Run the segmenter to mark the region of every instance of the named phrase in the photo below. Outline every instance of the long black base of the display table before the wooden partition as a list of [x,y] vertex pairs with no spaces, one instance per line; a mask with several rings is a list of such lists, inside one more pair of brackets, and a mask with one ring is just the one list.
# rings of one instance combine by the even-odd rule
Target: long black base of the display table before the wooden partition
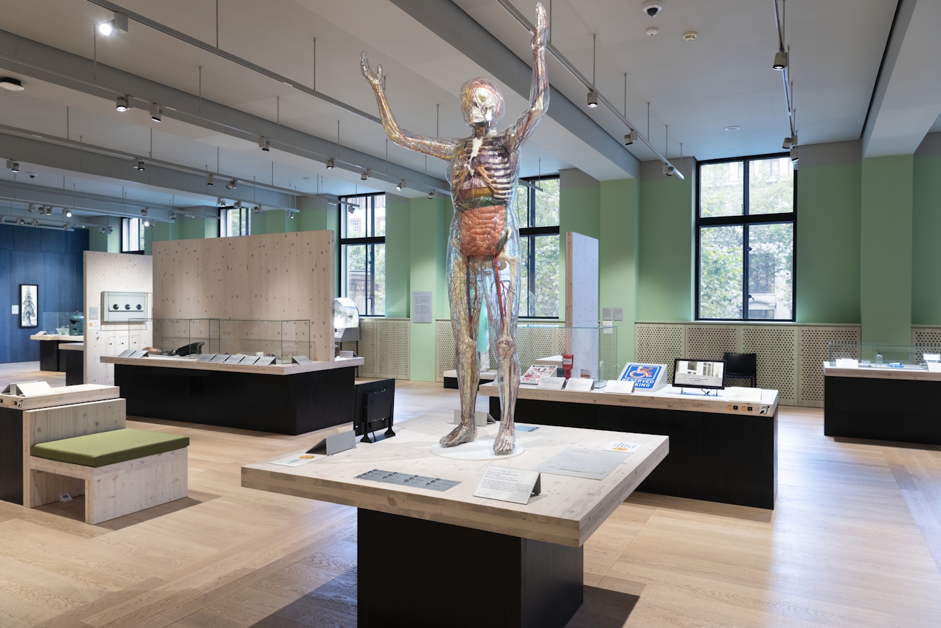
[[354,366],[295,375],[115,364],[128,416],[279,434],[353,421]]

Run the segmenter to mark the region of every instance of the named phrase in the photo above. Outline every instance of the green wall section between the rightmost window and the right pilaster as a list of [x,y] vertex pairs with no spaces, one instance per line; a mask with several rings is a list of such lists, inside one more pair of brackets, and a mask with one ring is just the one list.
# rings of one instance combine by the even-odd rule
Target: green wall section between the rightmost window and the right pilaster
[[797,171],[797,321],[859,323],[860,164]]

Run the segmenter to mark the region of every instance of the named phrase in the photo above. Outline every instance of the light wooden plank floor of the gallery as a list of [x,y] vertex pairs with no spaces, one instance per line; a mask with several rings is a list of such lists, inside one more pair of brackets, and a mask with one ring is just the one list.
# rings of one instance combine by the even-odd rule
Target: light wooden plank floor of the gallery
[[[399,423],[457,405],[396,385]],[[189,497],[97,526],[81,498],[0,502],[0,626],[356,625],[355,510],[239,486],[319,434],[128,425],[190,437]],[[569,626],[941,626],[941,448],[835,443],[821,411],[785,408],[778,452],[774,512],[632,496],[585,545]]]

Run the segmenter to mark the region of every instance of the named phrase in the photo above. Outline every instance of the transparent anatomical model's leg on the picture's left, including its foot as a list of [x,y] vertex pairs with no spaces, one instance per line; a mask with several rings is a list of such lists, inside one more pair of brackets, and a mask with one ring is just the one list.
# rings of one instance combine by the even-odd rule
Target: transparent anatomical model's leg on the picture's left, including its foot
[[[459,219],[455,216],[455,223]],[[463,257],[458,250],[454,224],[451,232],[447,252],[448,302],[451,305],[451,327],[455,331],[457,349],[457,389],[461,399],[461,424],[441,439],[442,447],[467,443],[476,438],[477,426],[473,414],[477,406],[477,384],[480,382],[477,330],[482,295],[479,273],[473,259]]]

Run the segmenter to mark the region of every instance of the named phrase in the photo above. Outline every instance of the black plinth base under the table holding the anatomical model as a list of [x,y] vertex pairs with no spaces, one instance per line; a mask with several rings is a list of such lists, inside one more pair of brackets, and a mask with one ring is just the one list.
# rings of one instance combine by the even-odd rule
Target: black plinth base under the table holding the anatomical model
[[581,547],[359,508],[359,628],[563,628]]

